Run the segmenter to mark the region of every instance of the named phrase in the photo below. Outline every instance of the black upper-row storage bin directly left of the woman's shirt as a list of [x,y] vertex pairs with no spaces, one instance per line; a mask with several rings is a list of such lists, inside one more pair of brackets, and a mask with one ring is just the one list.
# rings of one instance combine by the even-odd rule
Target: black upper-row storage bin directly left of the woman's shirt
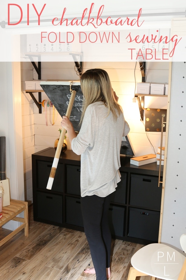
[[66,165],[66,192],[72,195],[81,195],[80,166]]

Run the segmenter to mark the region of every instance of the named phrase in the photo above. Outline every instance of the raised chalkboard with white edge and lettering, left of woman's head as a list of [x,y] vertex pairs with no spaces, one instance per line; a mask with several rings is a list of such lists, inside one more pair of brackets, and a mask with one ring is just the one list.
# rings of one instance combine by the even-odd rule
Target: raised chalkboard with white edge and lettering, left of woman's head
[[[70,82],[41,82],[40,86],[55,106],[59,115],[62,117],[66,114],[70,100]],[[80,130],[80,118],[82,114],[83,94],[80,87],[80,82],[73,82],[71,89],[76,91],[70,121],[73,124],[74,130]]]

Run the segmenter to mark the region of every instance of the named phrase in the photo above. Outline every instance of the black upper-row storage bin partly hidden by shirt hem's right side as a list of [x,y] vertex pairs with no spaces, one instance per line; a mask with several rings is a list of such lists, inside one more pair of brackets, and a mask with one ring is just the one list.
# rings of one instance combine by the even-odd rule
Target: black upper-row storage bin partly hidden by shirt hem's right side
[[121,173],[121,181],[117,184],[116,191],[111,194],[111,202],[126,203],[127,174]]

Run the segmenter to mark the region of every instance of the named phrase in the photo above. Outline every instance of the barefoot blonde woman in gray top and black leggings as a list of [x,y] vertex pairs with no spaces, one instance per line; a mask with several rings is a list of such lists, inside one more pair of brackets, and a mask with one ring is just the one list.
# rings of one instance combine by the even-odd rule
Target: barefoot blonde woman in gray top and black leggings
[[67,130],[73,152],[81,155],[82,216],[94,264],[84,272],[106,280],[111,276],[110,194],[120,182],[121,140],[130,128],[106,71],[87,70],[81,77],[81,89],[84,103],[79,134],[76,137],[66,116],[61,125]]

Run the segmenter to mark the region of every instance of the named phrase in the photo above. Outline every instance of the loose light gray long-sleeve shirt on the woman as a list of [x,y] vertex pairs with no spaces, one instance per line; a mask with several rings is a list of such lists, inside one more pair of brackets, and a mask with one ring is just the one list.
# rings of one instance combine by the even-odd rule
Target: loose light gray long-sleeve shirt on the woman
[[114,120],[107,116],[103,102],[90,104],[79,134],[72,140],[73,152],[81,155],[81,196],[105,197],[115,191],[120,181],[120,146],[130,128],[123,114]]

